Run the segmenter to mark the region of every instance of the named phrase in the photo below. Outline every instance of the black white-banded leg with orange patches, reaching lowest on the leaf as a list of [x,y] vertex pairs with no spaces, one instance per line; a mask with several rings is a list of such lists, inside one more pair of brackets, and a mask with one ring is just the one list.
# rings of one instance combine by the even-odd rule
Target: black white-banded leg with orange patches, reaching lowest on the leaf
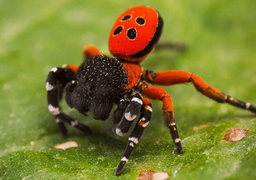
[[116,175],[120,175],[121,170],[124,168],[124,165],[130,158],[132,151],[134,149],[134,146],[139,142],[139,139],[145,129],[145,127],[148,125],[150,119],[151,119],[151,113],[152,108],[150,101],[146,98],[142,98],[142,108],[141,108],[141,114],[139,117],[139,120],[137,121],[137,124],[135,125],[129,139],[128,139],[128,145],[124,151],[124,155],[122,156],[122,159],[120,163],[118,164],[116,168]]

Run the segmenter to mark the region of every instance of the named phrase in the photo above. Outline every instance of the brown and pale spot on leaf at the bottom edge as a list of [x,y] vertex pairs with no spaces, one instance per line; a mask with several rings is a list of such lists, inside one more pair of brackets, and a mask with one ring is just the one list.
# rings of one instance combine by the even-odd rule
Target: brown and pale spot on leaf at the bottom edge
[[151,171],[150,169],[142,169],[140,171],[140,176],[137,178],[139,180],[166,180],[170,176],[167,172],[162,171]]

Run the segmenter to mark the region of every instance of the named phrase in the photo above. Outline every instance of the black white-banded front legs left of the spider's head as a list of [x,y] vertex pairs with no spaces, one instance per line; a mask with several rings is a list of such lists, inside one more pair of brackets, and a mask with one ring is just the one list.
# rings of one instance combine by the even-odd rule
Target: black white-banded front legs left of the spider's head
[[55,116],[55,121],[58,124],[62,135],[67,134],[67,128],[65,127],[64,122],[86,134],[91,132],[89,127],[77,122],[74,118],[60,111],[59,102],[63,89],[68,82],[74,81],[74,79],[75,76],[72,69],[59,67],[52,68],[46,79],[48,110]]

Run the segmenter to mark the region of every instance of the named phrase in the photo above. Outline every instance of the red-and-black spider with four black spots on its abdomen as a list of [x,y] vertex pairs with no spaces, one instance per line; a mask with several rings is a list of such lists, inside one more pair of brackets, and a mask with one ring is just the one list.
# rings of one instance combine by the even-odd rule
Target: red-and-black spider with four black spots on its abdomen
[[175,85],[192,82],[196,90],[219,103],[228,103],[256,113],[256,106],[230,97],[206,84],[196,74],[169,70],[153,72],[143,69],[140,62],[154,50],[162,33],[163,20],[149,6],[135,6],[124,11],[116,20],[108,38],[108,47],[114,57],[102,55],[93,45],[83,48],[84,61],[80,66],[63,65],[51,69],[46,80],[48,109],[55,116],[60,133],[67,134],[64,123],[74,126],[85,134],[90,128],[60,111],[59,102],[65,89],[65,100],[71,108],[87,116],[91,111],[94,119],[106,120],[114,104],[114,131],[124,136],[133,120],[140,117],[128,138],[128,145],[116,175],[121,173],[135,145],[148,125],[152,107],[150,100],[161,100],[166,126],[178,153],[183,153],[176,126],[170,95],[160,87],[149,85]]

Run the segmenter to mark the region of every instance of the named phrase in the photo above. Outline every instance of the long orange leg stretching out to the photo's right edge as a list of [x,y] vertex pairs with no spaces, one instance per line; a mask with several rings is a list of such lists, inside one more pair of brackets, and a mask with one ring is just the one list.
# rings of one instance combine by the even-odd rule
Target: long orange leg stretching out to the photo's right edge
[[147,82],[153,82],[159,85],[174,85],[192,82],[196,90],[208,98],[219,103],[228,103],[230,105],[249,110],[252,113],[256,113],[256,106],[226,95],[217,88],[205,83],[204,80],[196,74],[175,70],[154,73],[153,71],[146,70],[144,76]]

